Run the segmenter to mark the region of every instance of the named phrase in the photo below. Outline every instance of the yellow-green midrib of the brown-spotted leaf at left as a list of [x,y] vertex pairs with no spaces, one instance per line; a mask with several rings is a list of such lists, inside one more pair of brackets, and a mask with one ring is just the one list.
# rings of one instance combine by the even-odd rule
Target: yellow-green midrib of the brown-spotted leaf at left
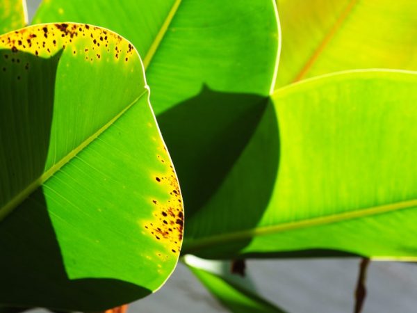
[[76,147],[74,150],[68,153],[65,157],[63,157],[63,159],[60,159],[60,161],[58,161],[58,163],[55,163],[54,166],[51,166],[51,168],[49,168],[40,177],[38,177],[38,179],[35,179],[33,182],[31,182],[31,184],[29,184],[26,188],[24,188],[24,190],[22,190],[20,193],[15,195],[15,197],[12,200],[8,201],[3,207],[1,207],[0,221],[3,220],[6,216],[8,216],[8,214],[10,214],[10,212],[13,211],[15,207],[17,207],[26,198],[28,198],[28,196],[31,195],[31,193],[33,193],[33,191],[35,191],[36,188],[39,188],[40,186],[42,186],[42,184],[44,184],[44,182],[47,182],[47,180],[51,178],[56,172],[58,172],[60,168],[62,168],[66,163],[70,162],[71,159],[76,156],[76,154],[79,154],[79,152],[81,152],[85,147],[90,145],[90,143],[92,143],[92,141],[94,141],[95,138],[100,136],[104,131],[106,131],[106,129],[111,127],[111,125],[113,125],[113,123],[116,120],[118,120],[124,113],[126,113],[126,111],[128,111],[133,106],[133,104],[136,104],[136,102],[138,102],[138,100],[143,95],[145,95],[147,91],[148,89],[147,87],[145,87],[145,90],[143,91],[143,93],[140,94],[138,97],[136,97],[136,99],[134,99],[133,102],[131,102],[131,104],[126,106],[126,108],[124,108],[122,111],[120,111],[120,113],[115,115],[115,117],[109,120],[103,127],[101,127],[98,131],[96,131],[90,137],[85,139],[85,141],[83,141],[78,147]]

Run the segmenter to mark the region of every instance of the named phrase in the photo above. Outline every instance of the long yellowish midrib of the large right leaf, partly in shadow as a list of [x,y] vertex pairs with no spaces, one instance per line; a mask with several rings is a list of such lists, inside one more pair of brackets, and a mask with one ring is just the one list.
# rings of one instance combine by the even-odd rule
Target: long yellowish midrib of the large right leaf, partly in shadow
[[411,209],[417,207],[417,199],[395,202],[391,204],[383,204],[377,207],[369,207],[365,209],[357,209],[347,211],[339,214],[332,214],[329,216],[320,216],[311,218],[309,220],[298,220],[290,223],[281,223],[278,225],[270,225],[263,227],[256,227],[250,230],[242,230],[238,232],[230,232],[227,234],[220,234],[195,241],[190,241],[187,246],[184,246],[183,253],[192,253],[199,248],[206,246],[213,246],[230,241],[239,241],[244,239],[252,239],[254,236],[264,236],[268,234],[275,234],[278,232],[287,232],[290,230],[300,230],[302,228],[327,225],[330,223],[343,222],[345,220],[352,220],[354,218],[364,218],[377,214],[389,213],[391,211],[398,211],[401,209]]

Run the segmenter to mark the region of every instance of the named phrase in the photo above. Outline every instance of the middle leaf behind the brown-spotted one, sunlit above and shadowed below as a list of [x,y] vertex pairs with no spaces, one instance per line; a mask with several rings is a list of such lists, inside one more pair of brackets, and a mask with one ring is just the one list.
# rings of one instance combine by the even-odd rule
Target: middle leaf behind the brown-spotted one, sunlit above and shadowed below
[[[139,47],[186,216],[193,216],[245,150],[275,85],[275,1],[43,1],[34,21],[53,20],[106,26]],[[265,162],[274,163],[265,148]]]

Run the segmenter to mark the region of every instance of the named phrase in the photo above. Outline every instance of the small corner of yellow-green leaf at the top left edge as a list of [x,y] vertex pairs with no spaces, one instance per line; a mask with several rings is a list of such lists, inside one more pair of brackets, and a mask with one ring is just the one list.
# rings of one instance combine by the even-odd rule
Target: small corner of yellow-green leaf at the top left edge
[[27,23],[26,0],[0,1],[0,35],[20,29]]

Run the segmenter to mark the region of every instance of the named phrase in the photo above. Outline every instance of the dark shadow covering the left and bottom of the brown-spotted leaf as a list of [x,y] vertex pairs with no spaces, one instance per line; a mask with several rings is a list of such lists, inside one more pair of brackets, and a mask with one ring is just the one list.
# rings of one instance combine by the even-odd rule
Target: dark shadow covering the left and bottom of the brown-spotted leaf
[[[0,207],[44,172],[60,54],[0,51]],[[42,188],[0,226],[2,305],[106,310],[151,293],[113,278],[70,280]]]

